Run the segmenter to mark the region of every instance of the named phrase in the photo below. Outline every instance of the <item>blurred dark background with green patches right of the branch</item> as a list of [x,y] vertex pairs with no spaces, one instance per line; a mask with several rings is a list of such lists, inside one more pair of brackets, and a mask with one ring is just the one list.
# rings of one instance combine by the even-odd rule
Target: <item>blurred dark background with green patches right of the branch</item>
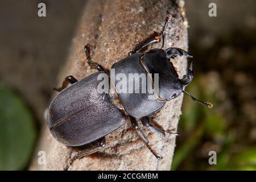
[[[217,17],[208,16],[210,2]],[[186,89],[214,106],[205,110],[184,96],[172,169],[255,170],[255,1],[186,3],[195,63],[195,80]],[[209,164],[210,151],[216,151],[216,165]]]

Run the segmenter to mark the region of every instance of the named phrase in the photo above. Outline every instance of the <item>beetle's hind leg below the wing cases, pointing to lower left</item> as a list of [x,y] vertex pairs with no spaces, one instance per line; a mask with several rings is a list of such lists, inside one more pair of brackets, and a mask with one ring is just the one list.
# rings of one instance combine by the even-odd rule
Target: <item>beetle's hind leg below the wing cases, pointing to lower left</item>
[[85,155],[90,155],[93,154],[94,152],[100,151],[103,147],[105,147],[105,137],[100,138],[97,140],[97,146],[91,147],[91,148],[86,148],[85,150],[80,151],[78,154],[73,156],[71,160],[69,161],[68,165],[65,167],[65,171],[68,170],[68,168],[71,166],[71,164],[79,158],[82,158]]

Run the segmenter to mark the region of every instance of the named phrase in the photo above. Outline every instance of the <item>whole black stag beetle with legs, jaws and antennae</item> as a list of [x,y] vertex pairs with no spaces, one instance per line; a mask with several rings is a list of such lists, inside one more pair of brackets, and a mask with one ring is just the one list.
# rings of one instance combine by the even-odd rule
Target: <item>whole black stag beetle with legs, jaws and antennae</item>
[[[150,84],[154,84],[155,77],[153,74],[157,73],[159,75],[159,86],[157,88],[158,90],[154,88],[153,94],[155,99],[150,99],[150,94],[147,92],[121,93],[116,83],[114,83],[114,94],[99,93],[97,90],[97,86],[100,84],[98,76],[102,73],[106,73],[109,76],[109,72],[100,64],[92,61],[90,57],[90,45],[87,44],[85,46],[87,63],[90,67],[97,68],[98,72],[80,81],[77,81],[73,76],[66,77],[63,85],[59,89],[55,89],[60,93],[57,94],[49,105],[47,114],[49,130],[59,142],[72,147],[91,146],[93,142],[97,143],[75,155],[66,169],[68,169],[73,160],[104,148],[105,135],[112,133],[118,127],[122,126],[126,120],[126,115],[129,116],[131,124],[137,130],[139,136],[143,139],[143,142],[152,154],[157,159],[160,159],[149,146],[146,136],[139,129],[137,119],[141,119],[142,124],[148,130],[165,137],[166,134],[176,135],[177,133],[172,133],[151,125],[150,115],[160,110],[166,101],[174,99],[183,92],[188,94],[193,101],[199,102],[209,108],[212,107],[212,104],[209,102],[196,100],[196,98],[184,91],[184,87],[192,81],[193,64],[191,63],[191,67],[187,69],[187,74],[182,79],[179,79],[170,61],[170,59],[174,59],[176,56],[192,56],[180,48],[172,47],[166,50],[163,49],[164,35],[170,20],[171,15],[167,15],[160,33],[154,32],[154,34],[139,42],[129,52],[127,57],[112,66],[115,73],[122,73],[126,76],[129,73],[150,75]],[[149,44],[159,42],[160,38],[162,38],[162,47],[160,49],[151,49],[145,53],[137,52]],[[67,88],[69,83],[72,85]],[[139,85],[139,89],[142,89],[141,87],[142,85]],[[117,101],[120,101],[119,105]]]

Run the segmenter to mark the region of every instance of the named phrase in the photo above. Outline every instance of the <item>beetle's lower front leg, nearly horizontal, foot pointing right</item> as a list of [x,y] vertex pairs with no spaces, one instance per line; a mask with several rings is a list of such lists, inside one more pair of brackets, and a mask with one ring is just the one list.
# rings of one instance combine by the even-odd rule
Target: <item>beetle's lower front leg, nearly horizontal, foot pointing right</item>
[[141,118],[141,122],[143,126],[146,126],[148,130],[152,131],[153,133],[156,133],[160,135],[161,137],[166,137],[167,134],[169,135],[179,135],[179,133],[174,133],[171,131],[166,131],[163,129],[160,129],[159,127],[156,127],[150,123],[150,117],[146,116]]

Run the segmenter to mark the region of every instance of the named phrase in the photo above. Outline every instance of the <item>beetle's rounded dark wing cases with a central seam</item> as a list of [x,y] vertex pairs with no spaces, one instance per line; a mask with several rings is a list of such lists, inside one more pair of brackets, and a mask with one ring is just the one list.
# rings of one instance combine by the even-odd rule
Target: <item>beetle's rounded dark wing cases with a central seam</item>
[[94,73],[61,91],[51,102],[47,124],[52,135],[67,146],[82,146],[112,133],[125,115],[106,93],[98,93]]

